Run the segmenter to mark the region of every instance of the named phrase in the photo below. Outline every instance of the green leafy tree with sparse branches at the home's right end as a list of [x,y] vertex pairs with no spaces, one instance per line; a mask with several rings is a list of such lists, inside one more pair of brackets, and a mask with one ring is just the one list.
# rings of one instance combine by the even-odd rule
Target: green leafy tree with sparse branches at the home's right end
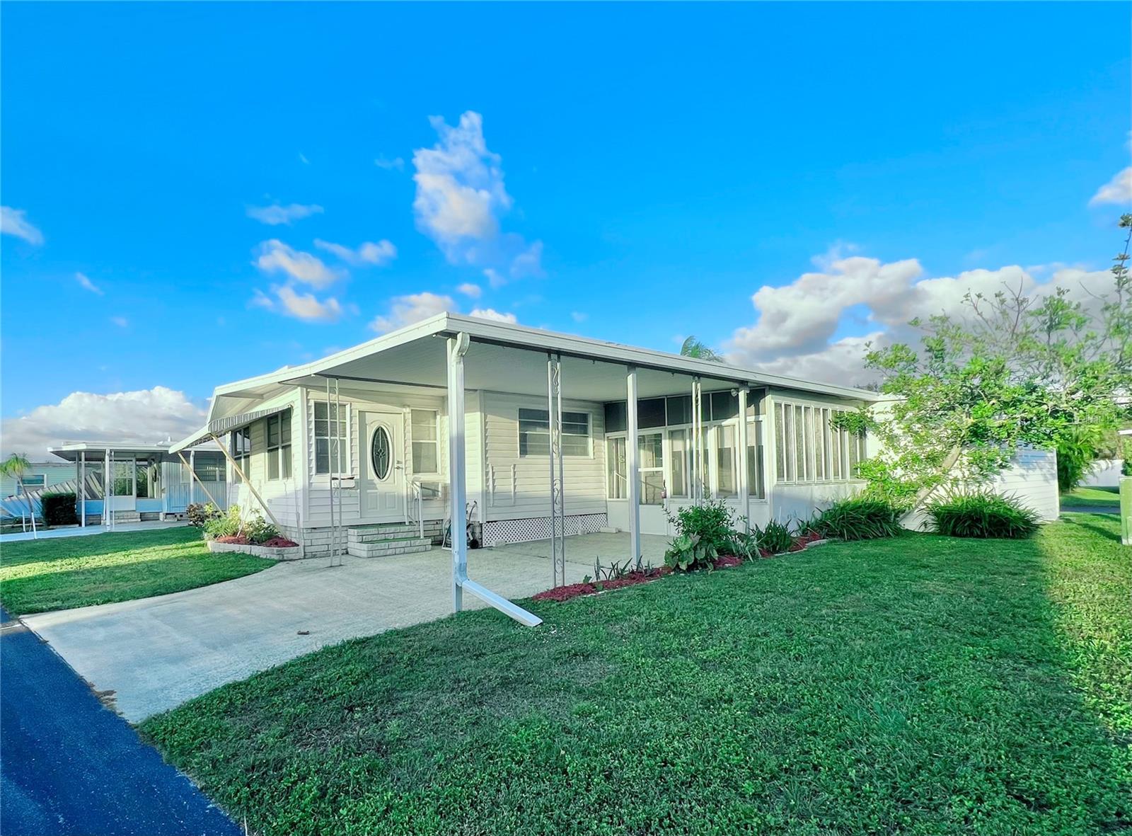
[[1132,215],[1113,283],[1088,306],[1065,288],[1036,299],[1021,288],[968,295],[963,315],[914,319],[919,349],[869,349],[866,366],[892,395],[868,415],[881,453],[861,462],[869,490],[906,507],[936,487],[985,483],[1019,445],[1079,447],[1082,434],[1120,426],[1132,411]]

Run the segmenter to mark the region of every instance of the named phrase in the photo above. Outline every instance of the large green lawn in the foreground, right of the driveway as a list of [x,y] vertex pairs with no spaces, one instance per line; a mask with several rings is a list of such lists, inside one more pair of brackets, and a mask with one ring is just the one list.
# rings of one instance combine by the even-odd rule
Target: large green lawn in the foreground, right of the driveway
[[1130,554],[1086,514],[829,545],[345,642],[142,731],[265,835],[1112,833]]

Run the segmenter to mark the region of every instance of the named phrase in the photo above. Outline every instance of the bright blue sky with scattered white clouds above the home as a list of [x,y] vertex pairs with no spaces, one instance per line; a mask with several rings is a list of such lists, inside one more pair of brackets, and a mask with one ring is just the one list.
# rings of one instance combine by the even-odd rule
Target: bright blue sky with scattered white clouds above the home
[[6,3],[5,447],[19,416],[109,433],[84,415],[120,426],[106,396],[155,387],[192,412],[438,305],[841,376],[944,285],[1106,268],[1129,25],[1123,3]]

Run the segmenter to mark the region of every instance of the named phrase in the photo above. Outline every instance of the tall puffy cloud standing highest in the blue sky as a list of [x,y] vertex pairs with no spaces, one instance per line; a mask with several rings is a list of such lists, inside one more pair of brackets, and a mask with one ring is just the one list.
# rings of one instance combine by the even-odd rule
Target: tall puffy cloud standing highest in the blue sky
[[500,229],[513,201],[503,160],[483,138],[483,117],[466,111],[455,127],[440,117],[429,121],[439,142],[413,152],[417,228],[452,264],[491,268],[504,281],[542,275],[542,242]]

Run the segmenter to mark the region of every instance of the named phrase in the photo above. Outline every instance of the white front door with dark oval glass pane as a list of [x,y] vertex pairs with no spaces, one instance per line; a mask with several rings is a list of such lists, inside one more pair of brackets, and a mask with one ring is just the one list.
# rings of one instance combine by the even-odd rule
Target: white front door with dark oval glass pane
[[359,412],[361,450],[358,501],[372,522],[405,519],[405,417],[401,412]]

